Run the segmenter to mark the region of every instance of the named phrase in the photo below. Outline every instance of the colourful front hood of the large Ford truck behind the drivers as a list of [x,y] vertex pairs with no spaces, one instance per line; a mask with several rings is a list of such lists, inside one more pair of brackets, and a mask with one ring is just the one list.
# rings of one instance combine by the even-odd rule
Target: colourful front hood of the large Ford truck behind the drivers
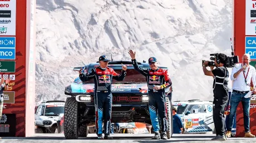
[[[79,77],[71,85],[66,86],[65,94],[88,94],[94,92],[94,83],[82,83]],[[112,93],[147,93],[147,83],[112,84]]]

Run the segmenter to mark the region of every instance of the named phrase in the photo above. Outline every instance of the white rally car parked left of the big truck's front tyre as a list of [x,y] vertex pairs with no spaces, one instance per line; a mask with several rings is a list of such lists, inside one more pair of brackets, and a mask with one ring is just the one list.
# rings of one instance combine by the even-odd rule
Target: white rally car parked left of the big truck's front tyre
[[61,117],[64,115],[65,101],[46,101],[35,108],[35,133],[61,133]]

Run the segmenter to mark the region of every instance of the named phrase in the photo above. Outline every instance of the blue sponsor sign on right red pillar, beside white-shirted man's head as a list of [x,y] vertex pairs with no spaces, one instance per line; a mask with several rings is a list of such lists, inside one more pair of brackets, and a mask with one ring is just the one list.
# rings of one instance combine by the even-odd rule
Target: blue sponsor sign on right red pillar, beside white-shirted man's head
[[245,53],[250,55],[251,60],[256,60],[256,37],[245,37]]

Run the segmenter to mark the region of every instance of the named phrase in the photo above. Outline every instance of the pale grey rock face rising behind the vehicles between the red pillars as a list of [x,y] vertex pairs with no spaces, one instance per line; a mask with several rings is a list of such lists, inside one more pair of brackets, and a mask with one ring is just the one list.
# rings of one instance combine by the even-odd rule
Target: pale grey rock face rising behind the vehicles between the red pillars
[[[201,60],[231,56],[231,0],[37,0],[36,101],[65,100],[72,67],[105,54],[169,67],[173,99],[213,98]],[[231,73],[231,72],[230,72]]]

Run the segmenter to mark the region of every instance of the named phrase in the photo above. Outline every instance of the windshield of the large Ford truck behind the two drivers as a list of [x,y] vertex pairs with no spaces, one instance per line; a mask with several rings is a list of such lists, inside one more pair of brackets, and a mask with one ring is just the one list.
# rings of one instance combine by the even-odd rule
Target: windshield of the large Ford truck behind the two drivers
[[[88,70],[91,71],[92,68]],[[114,69],[116,73],[121,73],[121,69]],[[93,79],[86,81],[85,83],[94,83]],[[146,83],[146,77],[134,69],[127,69],[126,76],[123,81],[116,81],[113,79],[112,83]]]

